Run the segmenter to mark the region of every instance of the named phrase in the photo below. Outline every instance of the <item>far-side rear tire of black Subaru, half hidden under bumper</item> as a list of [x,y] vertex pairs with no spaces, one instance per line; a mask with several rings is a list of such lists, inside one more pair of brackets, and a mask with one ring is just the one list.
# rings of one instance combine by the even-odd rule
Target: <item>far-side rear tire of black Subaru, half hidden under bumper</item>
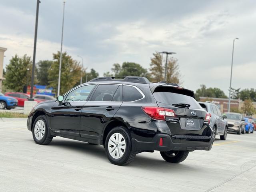
[[187,158],[188,153],[188,151],[160,151],[162,158],[170,163],[180,163],[184,161]]

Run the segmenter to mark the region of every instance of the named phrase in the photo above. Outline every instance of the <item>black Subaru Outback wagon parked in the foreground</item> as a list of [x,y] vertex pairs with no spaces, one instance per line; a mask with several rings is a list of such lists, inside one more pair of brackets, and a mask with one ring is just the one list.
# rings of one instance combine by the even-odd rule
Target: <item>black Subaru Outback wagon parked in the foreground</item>
[[41,102],[28,116],[37,144],[55,136],[103,145],[111,163],[125,165],[140,152],[160,151],[179,163],[188,152],[212,148],[210,115],[194,92],[147,78],[100,77]]

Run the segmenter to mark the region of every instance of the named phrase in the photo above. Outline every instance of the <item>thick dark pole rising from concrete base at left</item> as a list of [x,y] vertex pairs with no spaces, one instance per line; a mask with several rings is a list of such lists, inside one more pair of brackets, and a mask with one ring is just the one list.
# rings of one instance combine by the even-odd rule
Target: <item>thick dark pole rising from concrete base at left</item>
[[34,37],[33,66],[32,66],[31,88],[30,88],[30,99],[29,99],[30,101],[34,101],[33,88],[34,88],[34,75],[35,75],[35,65],[36,65],[36,40],[37,40],[39,3],[40,3],[40,0],[37,0],[37,2],[36,2],[36,26],[35,26],[35,37]]

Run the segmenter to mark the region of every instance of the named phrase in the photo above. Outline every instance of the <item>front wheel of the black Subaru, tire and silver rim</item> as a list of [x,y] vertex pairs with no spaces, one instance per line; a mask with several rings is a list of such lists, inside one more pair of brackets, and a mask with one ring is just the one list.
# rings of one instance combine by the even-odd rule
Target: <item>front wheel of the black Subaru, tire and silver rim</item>
[[36,118],[32,129],[33,139],[36,144],[48,145],[52,141],[52,137],[48,136],[48,127],[49,124],[46,116],[40,115]]

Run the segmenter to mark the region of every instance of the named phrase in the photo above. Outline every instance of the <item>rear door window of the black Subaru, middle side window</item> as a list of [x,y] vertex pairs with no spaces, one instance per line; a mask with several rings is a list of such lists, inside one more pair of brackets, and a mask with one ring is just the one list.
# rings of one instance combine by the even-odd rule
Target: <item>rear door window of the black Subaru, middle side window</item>
[[96,88],[91,101],[112,101],[119,85],[100,84]]

